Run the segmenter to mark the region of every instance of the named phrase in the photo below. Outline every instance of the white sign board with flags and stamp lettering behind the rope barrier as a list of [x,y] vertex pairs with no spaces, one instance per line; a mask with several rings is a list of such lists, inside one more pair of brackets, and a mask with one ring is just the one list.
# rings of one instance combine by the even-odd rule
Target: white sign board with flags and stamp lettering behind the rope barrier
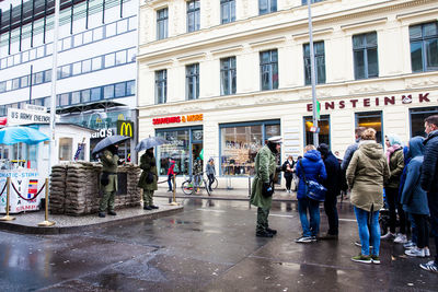
[[37,170],[0,171],[0,213],[5,213],[7,177],[11,177],[10,213],[39,210],[41,199],[45,196],[45,179]]

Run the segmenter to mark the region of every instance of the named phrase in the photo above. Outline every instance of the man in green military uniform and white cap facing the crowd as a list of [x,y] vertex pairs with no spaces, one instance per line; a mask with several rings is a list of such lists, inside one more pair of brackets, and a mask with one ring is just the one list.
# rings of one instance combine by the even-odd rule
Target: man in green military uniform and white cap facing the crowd
[[273,237],[277,234],[276,230],[269,229],[267,217],[273,201],[274,178],[279,168],[276,165],[275,154],[278,153],[280,147],[281,137],[272,137],[255,156],[255,176],[250,202],[258,207],[255,235],[260,237]]

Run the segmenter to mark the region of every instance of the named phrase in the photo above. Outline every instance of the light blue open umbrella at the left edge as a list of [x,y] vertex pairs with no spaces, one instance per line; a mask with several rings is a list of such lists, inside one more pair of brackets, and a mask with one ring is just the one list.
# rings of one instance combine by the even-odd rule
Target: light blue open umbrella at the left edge
[[37,144],[48,140],[50,138],[47,135],[28,127],[7,127],[0,130],[0,144]]

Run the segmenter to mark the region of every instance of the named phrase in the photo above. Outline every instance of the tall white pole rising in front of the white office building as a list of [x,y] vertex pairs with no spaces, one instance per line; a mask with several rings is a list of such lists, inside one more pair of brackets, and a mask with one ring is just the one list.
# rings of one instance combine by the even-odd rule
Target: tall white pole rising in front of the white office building
[[51,95],[50,95],[50,145],[48,149],[48,175],[51,173],[51,155],[55,150],[55,117],[56,117],[56,81],[58,78],[58,33],[59,33],[59,0],[55,0],[54,43],[51,59]]

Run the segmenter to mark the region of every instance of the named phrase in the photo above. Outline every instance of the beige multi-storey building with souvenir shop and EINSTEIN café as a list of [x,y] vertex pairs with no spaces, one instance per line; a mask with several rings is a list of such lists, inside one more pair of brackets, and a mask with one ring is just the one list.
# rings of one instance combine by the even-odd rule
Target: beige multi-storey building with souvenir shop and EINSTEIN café
[[[320,142],[342,155],[357,126],[422,135],[438,113],[436,0],[315,2]],[[151,0],[139,22],[139,139],[172,141],[162,175],[204,154],[222,186],[246,187],[265,139],[284,137],[281,161],[312,143],[306,0]]]

